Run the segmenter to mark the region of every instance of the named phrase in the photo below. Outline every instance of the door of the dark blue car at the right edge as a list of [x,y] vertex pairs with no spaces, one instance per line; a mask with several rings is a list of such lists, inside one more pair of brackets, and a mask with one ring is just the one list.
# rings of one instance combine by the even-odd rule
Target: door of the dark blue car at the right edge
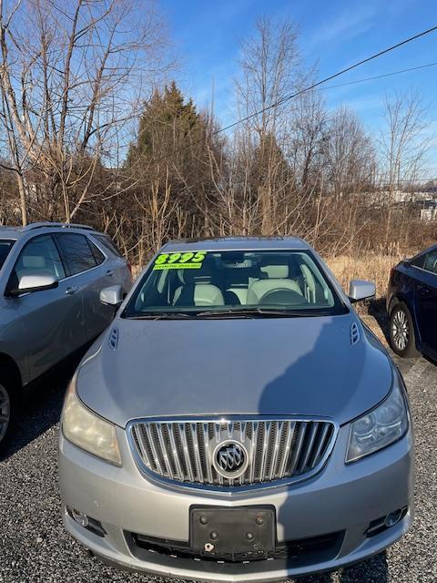
[[426,352],[437,353],[437,250],[423,253],[412,263],[414,307]]

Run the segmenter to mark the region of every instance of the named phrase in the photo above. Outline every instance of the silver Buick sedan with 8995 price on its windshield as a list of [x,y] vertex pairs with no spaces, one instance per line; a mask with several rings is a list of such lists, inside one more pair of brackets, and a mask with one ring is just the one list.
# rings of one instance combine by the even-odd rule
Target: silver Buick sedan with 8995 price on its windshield
[[68,388],[66,528],[120,568],[269,581],[379,553],[412,522],[401,375],[304,241],[165,245]]

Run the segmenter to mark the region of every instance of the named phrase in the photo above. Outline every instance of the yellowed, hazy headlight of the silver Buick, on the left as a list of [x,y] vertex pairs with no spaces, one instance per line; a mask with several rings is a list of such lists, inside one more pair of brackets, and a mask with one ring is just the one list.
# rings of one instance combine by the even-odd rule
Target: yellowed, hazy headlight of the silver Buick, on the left
[[66,393],[62,432],[68,441],[97,457],[121,465],[116,428],[82,404],[76,395],[76,374]]

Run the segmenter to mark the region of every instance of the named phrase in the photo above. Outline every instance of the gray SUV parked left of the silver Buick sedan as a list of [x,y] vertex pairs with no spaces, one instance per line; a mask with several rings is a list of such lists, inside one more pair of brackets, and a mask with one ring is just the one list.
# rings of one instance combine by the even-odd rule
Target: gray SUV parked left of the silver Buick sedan
[[107,235],[82,225],[0,227],[0,442],[18,398],[55,364],[96,339],[114,317],[100,302],[131,287]]

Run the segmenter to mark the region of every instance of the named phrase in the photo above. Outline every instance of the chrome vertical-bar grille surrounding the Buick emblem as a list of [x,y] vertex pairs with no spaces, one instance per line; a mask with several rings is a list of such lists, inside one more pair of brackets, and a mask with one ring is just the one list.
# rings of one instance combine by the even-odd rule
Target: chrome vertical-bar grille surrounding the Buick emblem
[[[312,476],[326,461],[336,426],[296,419],[144,420],[128,427],[133,453],[148,474],[198,486],[250,486]],[[249,465],[224,477],[213,464],[223,442],[244,445]]]

